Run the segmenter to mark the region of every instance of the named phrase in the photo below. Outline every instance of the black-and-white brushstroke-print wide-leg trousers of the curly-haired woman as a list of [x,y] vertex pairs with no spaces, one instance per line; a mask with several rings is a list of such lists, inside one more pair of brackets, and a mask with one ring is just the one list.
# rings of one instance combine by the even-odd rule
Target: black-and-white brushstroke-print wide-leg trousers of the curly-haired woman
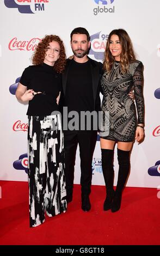
[[64,137],[60,115],[28,116],[30,227],[66,211]]

